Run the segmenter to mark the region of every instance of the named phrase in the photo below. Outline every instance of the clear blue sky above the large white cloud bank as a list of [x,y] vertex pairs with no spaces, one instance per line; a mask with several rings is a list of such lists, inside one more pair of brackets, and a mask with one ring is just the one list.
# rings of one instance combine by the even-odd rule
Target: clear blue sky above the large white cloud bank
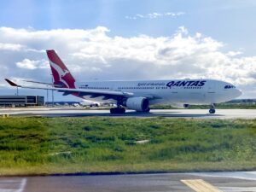
[[[253,55],[256,48],[253,0],[9,0],[1,1],[0,7],[2,26],[37,30],[107,26],[110,35],[124,37],[168,36],[178,26],[186,26],[189,32],[201,32],[236,49],[247,49],[247,55]],[[125,15],[180,11],[185,15],[178,19],[125,19]]]

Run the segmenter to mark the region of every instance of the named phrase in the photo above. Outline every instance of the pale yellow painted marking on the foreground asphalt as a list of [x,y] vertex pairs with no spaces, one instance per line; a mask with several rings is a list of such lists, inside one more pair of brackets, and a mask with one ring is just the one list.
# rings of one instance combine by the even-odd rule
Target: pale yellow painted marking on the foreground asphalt
[[196,192],[222,192],[212,184],[205,182],[202,179],[186,179],[181,180],[182,183],[185,183],[189,188],[194,189]]

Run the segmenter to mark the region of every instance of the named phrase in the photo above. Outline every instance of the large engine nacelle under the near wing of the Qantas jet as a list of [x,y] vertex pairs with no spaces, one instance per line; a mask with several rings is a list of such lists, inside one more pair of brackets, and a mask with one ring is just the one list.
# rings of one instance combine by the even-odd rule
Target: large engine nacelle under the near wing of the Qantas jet
[[149,109],[148,99],[142,96],[128,98],[124,103],[124,105],[127,108],[130,108],[136,111],[148,111]]

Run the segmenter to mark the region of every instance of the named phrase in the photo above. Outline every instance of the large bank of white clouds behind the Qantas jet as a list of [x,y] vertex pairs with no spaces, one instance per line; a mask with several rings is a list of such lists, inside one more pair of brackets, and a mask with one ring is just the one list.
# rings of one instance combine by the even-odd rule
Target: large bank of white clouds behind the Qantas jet
[[200,32],[190,34],[184,26],[158,38],[111,37],[108,32],[103,26],[49,31],[0,27],[0,44],[20,45],[15,51],[0,51],[0,76],[49,82],[49,63],[42,50],[55,49],[78,80],[222,79],[248,90],[248,96],[256,88],[256,56],[224,52],[223,42]]

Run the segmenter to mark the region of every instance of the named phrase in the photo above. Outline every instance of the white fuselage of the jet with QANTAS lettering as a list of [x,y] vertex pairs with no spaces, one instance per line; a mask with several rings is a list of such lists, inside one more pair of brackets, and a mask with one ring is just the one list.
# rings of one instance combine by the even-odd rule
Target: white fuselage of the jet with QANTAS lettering
[[[212,79],[171,79],[142,81],[94,81],[77,83],[79,89],[118,90],[149,99],[149,104],[212,104],[227,102],[238,96],[241,91],[233,84]],[[102,101],[102,97],[84,99]],[[112,101],[115,102],[115,101]]]

